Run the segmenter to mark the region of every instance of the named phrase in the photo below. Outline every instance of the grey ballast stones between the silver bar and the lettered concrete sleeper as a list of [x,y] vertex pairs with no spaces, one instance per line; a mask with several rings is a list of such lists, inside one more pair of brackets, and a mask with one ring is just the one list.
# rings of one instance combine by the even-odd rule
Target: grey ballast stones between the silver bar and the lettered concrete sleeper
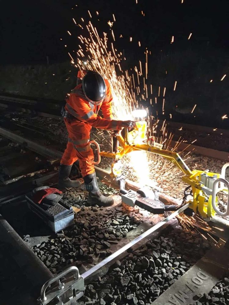
[[150,305],[212,246],[180,226],[116,261],[108,273],[86,286],[79,305]]

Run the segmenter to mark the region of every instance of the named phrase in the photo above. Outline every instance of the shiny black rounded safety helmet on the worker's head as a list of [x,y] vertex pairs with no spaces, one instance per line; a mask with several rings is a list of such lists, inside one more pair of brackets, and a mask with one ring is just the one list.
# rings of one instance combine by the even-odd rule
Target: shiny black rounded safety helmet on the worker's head
[[83,77],[82,89],[86,97],[94,105],[99,105],[102,102],[107,91],[103,77],[94,71],[88,71]]

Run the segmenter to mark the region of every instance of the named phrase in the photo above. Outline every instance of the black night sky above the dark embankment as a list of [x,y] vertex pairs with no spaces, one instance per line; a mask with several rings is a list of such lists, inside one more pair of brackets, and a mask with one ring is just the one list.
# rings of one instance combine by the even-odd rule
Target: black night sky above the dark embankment
[[[77,48],[76,36],[82,33],[72,17],[78,22],[81,17],[88,20],[88,9],[100,31],[109,31],[107,21],[115,14],[113,29],[119,50],[143,52],[146,46],[154,50],[166,48],[172,35],[174,48],[180,48],[187,44],[191,32],[191,44],[198,46],[201,41],[209,41],[215,48],[228,49],[228,7],[228,0],[184,0],[183,4],[181,0],[138,0],[137,5],[136,0],[5,1],[1,5],[0,64],[44,63],[47,55],[50,63],[68,60],[67,52]],[[99,23],[96,10],[100,13]],[[118,38],[120,34],[124,38]],[[141,48],[137,41],[141,41]]]

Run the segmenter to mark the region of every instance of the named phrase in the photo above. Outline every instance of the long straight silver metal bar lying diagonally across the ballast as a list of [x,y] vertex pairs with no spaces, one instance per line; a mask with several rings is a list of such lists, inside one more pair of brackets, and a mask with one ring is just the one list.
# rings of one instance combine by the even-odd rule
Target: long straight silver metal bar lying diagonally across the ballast
[[168,221],[176,217],[179,213],[183,212],[185,209],[188,208],[188,204],[182,206],[179,210],[175,211],[174,213],[170,214],[168,217],[166,217],[164,220],[158,222],[155,224],[152,228],[141,234],[140,236],[133,239],[131,242],[120,248],[115,253],[112,253],[110,256],[102,260],[99,264],[92,267],[88,271],[84,272],[82,274],[82,277],[86,280],[87,278],[90,278],[93,276],[99,269],[104,268],[107,264],[110,262],[117,260],[118,256],[122,254],[123,252],[127,251],[128,249],[132,248],[137,243],[141,242],[143,239],[147,238],[150,234],[161,228],[163,225],[165,225]]

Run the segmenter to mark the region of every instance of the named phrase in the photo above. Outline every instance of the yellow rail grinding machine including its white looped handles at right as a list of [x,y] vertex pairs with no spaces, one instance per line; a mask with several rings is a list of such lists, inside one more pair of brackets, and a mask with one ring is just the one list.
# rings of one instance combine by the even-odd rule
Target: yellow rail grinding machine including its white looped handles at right
[[[152,139],[147,138],[146,131],[147,123],[145,121],[136,122],[136,128],[132,131],[124,128],[122,132],[116,135],[119,143],[117,152],[101,151],[100,156],[113,158],[116,162],[129,152],[139,150],[162,156],[173,162],[174,165],[183,171],[184,176],[182,176],[182,180],[188,185],[191,185],[193,200],[188,201],[188,203],[194,213],[199,213],[203,218],[214,217],[215,214],[221,216],[229,215],[229,198],[227,206],[225,207],[226,212],[221,212],[217,204],[218,196],[216,196],[221,191],[228,195],[229,183],[225,180],[225,170],[229,167],[229,163],[224,165],[221,174],[211,173],[207,170],[191,171],[178,153],[162,149],[162,144],[152,142]],[[150,144],[150,142],[152,143]],[[111,175],[116,177],[122,173],[115,165],[116,163],[113,163],[111,166]]]

